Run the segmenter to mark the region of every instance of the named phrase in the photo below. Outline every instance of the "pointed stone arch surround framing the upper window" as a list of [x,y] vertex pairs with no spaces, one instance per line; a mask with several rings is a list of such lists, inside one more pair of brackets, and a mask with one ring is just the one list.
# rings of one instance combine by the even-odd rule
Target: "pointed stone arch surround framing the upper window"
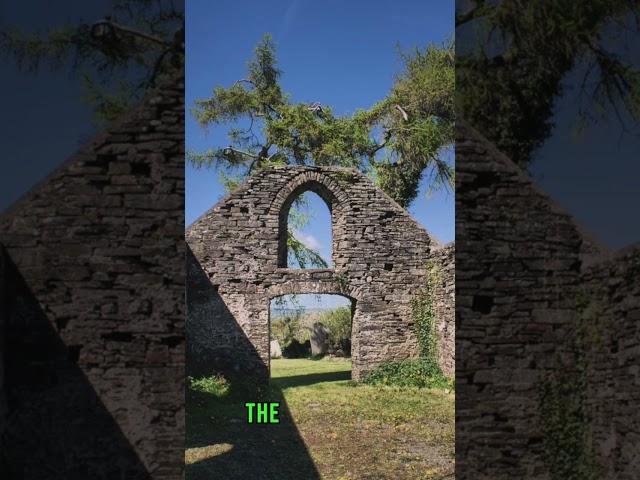
[[[305,192],[316,193],[329,208],[331,214],[332,256],[336,252],[338,225],[344,224],[348,202],[346,193],[331,178],[320,172],[308,171],[299,174],[288,182],[276,194],[271,204],[270,213],[278,217],[278,268],[287,267],[287,227],[289,209],[298,196]],[[333,259],[335,260],[335,259]],[[333,262],[335,265],[335,261]]]

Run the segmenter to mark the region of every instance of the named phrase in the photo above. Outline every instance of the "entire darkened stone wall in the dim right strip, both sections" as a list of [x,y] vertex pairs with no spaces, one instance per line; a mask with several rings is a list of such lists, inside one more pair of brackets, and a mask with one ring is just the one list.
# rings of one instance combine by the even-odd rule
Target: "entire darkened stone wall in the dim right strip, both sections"
[[456,182],[456,478],[637,478],[640,249],[607,257],[464,124]]

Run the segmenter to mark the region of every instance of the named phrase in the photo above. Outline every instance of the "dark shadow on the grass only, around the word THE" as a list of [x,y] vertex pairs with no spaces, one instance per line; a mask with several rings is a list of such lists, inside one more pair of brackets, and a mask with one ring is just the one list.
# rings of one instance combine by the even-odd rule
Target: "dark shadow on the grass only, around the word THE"
[[[187,396],[187,480],[319,480],[279,386],[232,382],[224,398]],[[245,402],[279,402],[280,423],[247,424]]]

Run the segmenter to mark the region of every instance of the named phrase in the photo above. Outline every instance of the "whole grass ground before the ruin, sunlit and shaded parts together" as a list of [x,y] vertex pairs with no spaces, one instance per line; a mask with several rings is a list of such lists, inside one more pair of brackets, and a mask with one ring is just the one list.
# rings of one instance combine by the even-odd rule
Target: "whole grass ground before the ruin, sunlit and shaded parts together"
[[188,395],[187,480],[453,478],[454,394],[359,385],[343,359],[271,363],[281,423],[247,425],[246,391]]

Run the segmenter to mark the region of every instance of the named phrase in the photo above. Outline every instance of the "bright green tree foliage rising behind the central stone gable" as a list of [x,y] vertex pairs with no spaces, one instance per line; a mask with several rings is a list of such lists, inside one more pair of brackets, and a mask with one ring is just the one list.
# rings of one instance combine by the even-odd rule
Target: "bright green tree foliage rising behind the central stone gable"
[[320,102],[294,103],[280,85],[273,40],[266,35],[248,64],[246,78],[214,88],[196,101],[203,127],[229,126],[229,146],[190,152],[196,166],[240,176],[273,165],[354,167],[377,177],[380,186],[407,206],[423,172],[451,185],[452,167],[441,159],[453,142],[453,43],[403,56],[404,72],[388,96],[367,110],[335,115]]

